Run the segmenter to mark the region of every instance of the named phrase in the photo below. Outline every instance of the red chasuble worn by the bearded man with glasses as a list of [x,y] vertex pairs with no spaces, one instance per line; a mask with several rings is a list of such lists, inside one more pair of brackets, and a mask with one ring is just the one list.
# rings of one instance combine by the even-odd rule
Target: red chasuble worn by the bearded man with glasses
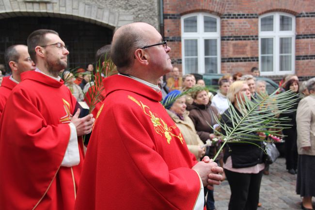
[[21,75],[0,121],[0,210],[73,210],[83,164],[61,163],[76,99],[48,76]]

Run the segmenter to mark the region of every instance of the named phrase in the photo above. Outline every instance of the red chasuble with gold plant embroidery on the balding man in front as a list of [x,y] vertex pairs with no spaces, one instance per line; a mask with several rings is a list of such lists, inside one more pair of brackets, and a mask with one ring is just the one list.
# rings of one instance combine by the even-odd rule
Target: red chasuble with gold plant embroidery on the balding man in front
[[192,210],[201,181],[161,94],[131,78],[104,79],[75,210]]

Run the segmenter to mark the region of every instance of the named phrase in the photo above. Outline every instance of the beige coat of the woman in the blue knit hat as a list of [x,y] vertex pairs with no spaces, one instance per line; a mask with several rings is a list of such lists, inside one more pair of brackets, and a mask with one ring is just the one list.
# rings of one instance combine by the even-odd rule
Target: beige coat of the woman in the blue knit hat
[[175,113],[170,110],[166,111],[172,117],[178,129],[182,132],[189,151],[195,155],[197,160],[201,158],[198,157],[198,149],[201,145],[204,145],[204,143],[199,138],[195,126],[188,116],[189,112],[187,111],[184,113],[184,120],[181,120]]

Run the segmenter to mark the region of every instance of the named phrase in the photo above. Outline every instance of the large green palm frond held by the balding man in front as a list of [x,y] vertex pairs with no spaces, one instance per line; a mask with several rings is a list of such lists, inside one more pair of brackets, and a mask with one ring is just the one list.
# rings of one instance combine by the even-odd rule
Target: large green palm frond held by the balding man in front
[[252,133],[263,132],[279,136],[279,131],[290,127],[290,125],[285,124],[288,118],[278,116],[281,113],[292,112],[298,98],[292,91],[276,94],[277,91],[269,96],[257,96],[254,101],[249,100],[247,97],[245,97],[246,100],[244,102],[237,101],[237,105],[242,110],[241,112],[230,105],[226,111],[227,113],[223,113],[222,117],[232,122],[232,126],[228,126],[214,115],[221,130],[224,131],[218,131],[224,141],[214,160],[227,142],[250,143],[259,146],[253,141],[264,141],[264,139]]

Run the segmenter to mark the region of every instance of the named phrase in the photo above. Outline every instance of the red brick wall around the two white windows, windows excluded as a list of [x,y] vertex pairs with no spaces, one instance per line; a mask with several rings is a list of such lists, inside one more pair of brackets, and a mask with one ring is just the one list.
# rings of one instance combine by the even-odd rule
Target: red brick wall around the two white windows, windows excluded
[[[221,40],[221,58],[226,60],[243,57],[258,58],[258,16],[269,12],[285,12],[296,16],[295,53],[299,57],[295,64],[296,73],[301,77],[315,76],[314,0],[164,0],[163,9],[164,36],[170,38],[168,42],[172,48],[170,56],[173,65],[180,70],[182,59],[180,16],[206,12],[221,17],[221,37],[254,37],[245,40],[232,40],[232,38]],[[171,14],[177,15],[177,18],[169,19],[168,15]],[[228,14],[232,14],[232,18]],[[238,18],[236,14],[242,14],[246,18]],[[221,72],[248,73],[253,66],[258,66],[258,62],[223,62]]]

